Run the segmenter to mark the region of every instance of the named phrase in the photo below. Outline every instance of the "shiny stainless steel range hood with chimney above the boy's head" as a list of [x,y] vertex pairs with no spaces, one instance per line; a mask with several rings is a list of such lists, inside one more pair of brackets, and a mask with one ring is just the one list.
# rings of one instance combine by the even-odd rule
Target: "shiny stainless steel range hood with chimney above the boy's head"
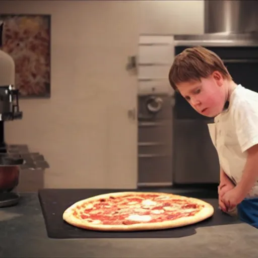
[[174,35],[175,45],[258,47],[258,0],[204,0],[204,33]]

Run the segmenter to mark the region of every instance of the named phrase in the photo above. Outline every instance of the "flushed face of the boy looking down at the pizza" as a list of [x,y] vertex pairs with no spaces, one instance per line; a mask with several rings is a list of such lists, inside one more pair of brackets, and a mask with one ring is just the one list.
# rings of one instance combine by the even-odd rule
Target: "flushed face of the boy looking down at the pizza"
[[200,114],[215,117],[222,112],[226,94],[224,79],[219,72],[201,81],[184,82],[177,85],[180,94]]

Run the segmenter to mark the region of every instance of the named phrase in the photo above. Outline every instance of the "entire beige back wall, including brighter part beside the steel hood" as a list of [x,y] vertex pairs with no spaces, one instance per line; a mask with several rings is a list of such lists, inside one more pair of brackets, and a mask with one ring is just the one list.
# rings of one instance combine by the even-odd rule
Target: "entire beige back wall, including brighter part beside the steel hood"
[[7,142],[45,156],[45,187],[136,185],[136,162],[123,174],[121,159],[107,161],[119,139],[107,136],[107,110],[119,109],[108,99],[131,101],[137,79],[124,68],[139,33],[202,33],[202,1],[0,1],[0,10],[52,15],[51,98],[21,100],[24,118],[6,124]]

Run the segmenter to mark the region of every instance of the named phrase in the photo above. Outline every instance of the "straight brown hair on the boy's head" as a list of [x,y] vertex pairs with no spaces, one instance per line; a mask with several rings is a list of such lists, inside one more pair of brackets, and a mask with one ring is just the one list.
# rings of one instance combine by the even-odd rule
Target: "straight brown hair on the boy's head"
[[175,56],[168,75],[169,83],[176,90],[176,84],[200,81],[214,71],[220,72],[224,79],[232,80],[223,61],[213,51],[202,46],[186,48]]

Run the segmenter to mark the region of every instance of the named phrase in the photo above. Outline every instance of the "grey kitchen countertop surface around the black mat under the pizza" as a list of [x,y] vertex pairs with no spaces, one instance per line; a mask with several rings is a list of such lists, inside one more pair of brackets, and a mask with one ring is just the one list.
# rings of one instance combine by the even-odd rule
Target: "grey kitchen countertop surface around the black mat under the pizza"
[[182,238],[48,238],[38,193],[0,208],[0,257],[257,257],[258,230],[245,224],[201,227]]

